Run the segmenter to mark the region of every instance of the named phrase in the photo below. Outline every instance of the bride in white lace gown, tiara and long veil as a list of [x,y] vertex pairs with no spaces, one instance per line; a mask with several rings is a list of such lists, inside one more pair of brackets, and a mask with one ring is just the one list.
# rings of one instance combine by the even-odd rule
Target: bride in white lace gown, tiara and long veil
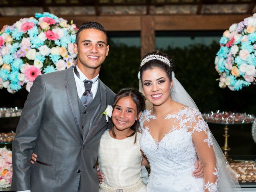
[[[143,90],[153,104],[140,118],[140,148],[151,168],[147,192],[242,191],[196,104],[174,77],[173,65],[160,51],[140,64]],[[197,157],[204,178],[191,174]]]

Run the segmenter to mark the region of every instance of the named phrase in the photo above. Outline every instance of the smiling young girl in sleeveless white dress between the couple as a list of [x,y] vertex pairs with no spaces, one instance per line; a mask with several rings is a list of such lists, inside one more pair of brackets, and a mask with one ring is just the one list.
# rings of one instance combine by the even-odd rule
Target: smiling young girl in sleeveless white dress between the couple
[[[146,192],[141,179],[141,133],[137,132],[144,110],[145,98],[137,89],[124,88],[116,94],[111,129],[100,139],[98,163],[104,182],[99,192]],[[36,154],[32,160],[36,161]]]

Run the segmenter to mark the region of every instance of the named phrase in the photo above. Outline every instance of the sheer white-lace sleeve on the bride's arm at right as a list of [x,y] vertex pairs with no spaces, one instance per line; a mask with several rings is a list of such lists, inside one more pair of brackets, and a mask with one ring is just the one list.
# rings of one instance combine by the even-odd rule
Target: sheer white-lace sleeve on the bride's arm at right
[[217,192],[219,169],[216,164],[212,135],[199,111],[194,115],[192,139],[198,158],[204,168],[204,187],[206,192]]

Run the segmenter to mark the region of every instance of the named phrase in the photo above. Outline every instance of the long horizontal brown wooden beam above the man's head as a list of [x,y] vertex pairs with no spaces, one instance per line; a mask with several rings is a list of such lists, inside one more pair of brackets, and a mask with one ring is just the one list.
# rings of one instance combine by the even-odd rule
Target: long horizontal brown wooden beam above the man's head
[[[154,19],[156,31],[168,30],[226,30],[233,23],[238,23],[251,14],[223,14],[223,15],[155,15],[148,16]],[[28,16],[29,17],[29,16]],[[60,16],[69,22],[80,26],[86,21],[101,23],[107,31],[140,31],[141,18],[145,16],[88,16],[72,15]],[[0,17],[0,29],[8,24],[12,25],[23,16]]]

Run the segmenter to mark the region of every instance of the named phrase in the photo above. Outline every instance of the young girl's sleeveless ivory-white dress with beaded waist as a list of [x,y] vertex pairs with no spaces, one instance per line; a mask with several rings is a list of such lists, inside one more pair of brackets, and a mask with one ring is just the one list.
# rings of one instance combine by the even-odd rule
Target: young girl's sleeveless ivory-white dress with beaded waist
[[102,135],[98,153],[100,171],[104,182],[100,184],[100,192],[146,192],[146,186],[141,179],[140,152],[141,134],[122,140],[114,139],[109,131]]

